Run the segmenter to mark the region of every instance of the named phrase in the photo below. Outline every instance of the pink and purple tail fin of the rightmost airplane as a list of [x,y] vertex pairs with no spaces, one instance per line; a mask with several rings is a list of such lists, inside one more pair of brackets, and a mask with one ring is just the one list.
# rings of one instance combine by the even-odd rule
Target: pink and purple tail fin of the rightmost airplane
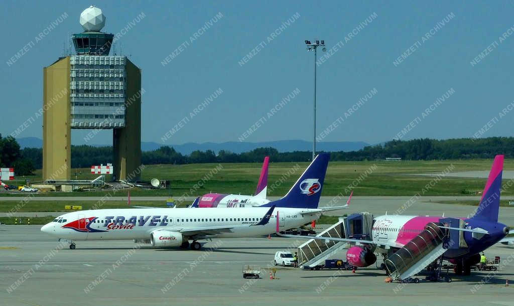
[[503,155],[497,155],[489,172],[489,178],[485,184],[482,199],[476,209],[473,219],[498,222],[500,211],[500,189],[502,188]]

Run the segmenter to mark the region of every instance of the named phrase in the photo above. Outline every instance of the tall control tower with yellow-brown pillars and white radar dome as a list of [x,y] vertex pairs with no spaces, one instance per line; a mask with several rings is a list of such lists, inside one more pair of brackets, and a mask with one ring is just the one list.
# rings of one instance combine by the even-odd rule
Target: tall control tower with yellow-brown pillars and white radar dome
[[80,24],[84,32],[72,35],[77,54],[43,69],[43,180],[70,179],[71,129],[90,129],[90,144],[99,129],[112,129],[113,179],[138,180],[141,70],[109,55],[114,35],[100,32],[101,9],[85,9]]

